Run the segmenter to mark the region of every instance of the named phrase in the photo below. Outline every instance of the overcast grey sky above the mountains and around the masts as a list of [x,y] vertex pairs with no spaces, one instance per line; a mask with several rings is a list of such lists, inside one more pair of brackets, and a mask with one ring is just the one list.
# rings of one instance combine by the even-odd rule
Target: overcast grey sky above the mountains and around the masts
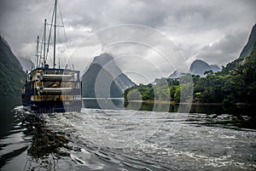
[[[0,2],[0,34],[17,57],[34,61],[36,39],[44,18],[50,19],[53,1]],[[255,0],[59,0],[59,4],[68,43],[58,49],[67,52],[63,46],[68,44],[73,56],[65,61],[72,60],[83,71],[93,55],[111,53],[137,83],[187,70],[195,59],[225,66],[239,56],[256,22]]]

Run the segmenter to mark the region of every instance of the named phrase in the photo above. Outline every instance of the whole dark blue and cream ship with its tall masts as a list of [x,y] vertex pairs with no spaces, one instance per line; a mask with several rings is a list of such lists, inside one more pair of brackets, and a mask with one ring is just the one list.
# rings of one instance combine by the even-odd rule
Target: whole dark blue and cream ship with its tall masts
[[[57,29],[57,0],[54,2],[51,23],[44,20],[43,41],[41,52],[39,49],[39,37],[37,41],[36,65],[32,71],[27,71],[27,77],[22,92],[22,105],[26,110],[36,113],[54,113],[80,111],[82,107],[79,71],[74,68],[56,67],[56,29]],[[46,27],[51,26],[53,32],[53,65],[47,64],[47,51],[49,38],[46,42]],[[50,36],[49,34],[49,37]],[[60,57],[59,57],[60,59]]]

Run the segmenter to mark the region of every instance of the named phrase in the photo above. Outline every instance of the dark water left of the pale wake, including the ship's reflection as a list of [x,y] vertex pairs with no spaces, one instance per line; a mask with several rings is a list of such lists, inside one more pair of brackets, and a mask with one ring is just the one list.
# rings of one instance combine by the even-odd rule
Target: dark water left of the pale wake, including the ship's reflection
[[40,116],[24,111],[20,99],[0,101],[1,170],[52,170],[57,157],[69,156],[61,151],[68,142],[64,133],[55,133]]

